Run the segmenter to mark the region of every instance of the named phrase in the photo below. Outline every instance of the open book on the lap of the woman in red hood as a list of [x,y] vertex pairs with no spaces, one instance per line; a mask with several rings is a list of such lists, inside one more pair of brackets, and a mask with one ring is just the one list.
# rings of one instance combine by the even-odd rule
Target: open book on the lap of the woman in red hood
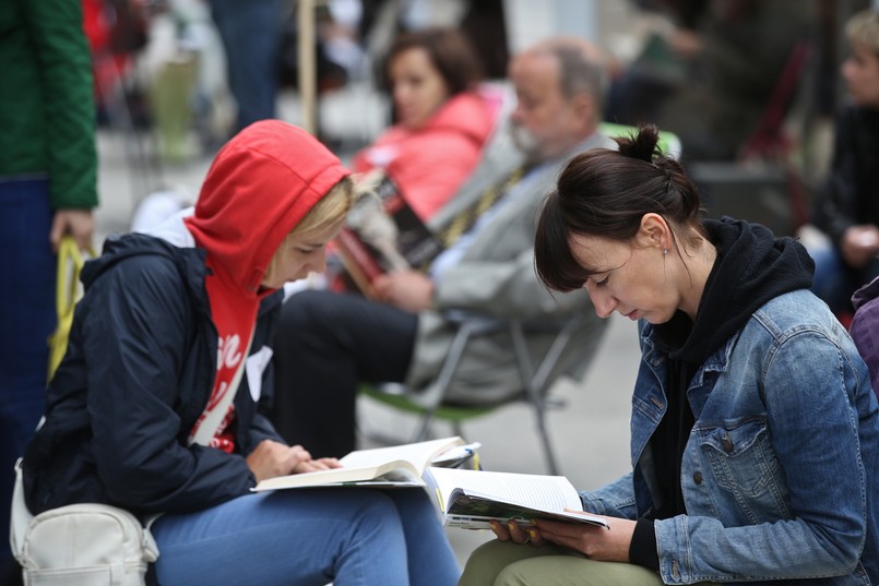
[[459,436],[357,450],[342,457],[341,468],[268,478],[254,491],[338,486],[423,487],[428,465],[455,466],[475,447]]

